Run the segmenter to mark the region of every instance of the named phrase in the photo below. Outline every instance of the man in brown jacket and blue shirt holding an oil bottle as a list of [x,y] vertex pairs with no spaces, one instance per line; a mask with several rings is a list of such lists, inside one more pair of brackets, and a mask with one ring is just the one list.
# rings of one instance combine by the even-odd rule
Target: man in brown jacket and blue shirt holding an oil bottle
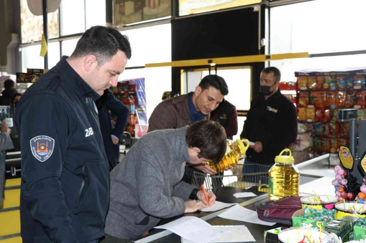
[[[218,75],[205,76],[194,92],[174,97],[158,104],[149,119],[147,132],[160,129],[176,129],[190,126],[196,121],[210,120],[210,112],[216,109],[229,93],[224,78]],[[208,174],[216,174],[209,166],[194,168]],[[193,170],[186,167],[183,180],[190,182]]]

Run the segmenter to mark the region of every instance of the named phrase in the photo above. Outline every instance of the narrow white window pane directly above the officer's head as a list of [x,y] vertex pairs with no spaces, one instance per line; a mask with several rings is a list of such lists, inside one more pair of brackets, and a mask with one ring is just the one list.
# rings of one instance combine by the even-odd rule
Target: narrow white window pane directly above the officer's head
[[87,30],[95,25],[105,25],[105,0],[85,1]]

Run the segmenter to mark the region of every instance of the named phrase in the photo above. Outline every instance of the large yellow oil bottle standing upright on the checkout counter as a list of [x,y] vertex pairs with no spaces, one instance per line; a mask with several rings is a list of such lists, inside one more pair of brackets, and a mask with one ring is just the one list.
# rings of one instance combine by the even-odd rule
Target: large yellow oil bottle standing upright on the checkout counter
[[[289,152],[290,155],[282,155]],[[291,150],[286,148],[275,157],[274,166],[269,171],[269,190],[271,200],[279,200],[284,197],[299,195],[300,172],[294,165],[294,157]]]

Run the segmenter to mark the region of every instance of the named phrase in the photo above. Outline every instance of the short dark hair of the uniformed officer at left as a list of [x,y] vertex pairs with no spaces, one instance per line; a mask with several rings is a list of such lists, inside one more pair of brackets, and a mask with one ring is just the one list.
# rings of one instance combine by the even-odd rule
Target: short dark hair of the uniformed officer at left
[[122,35],[117,27],[111,24],[107,27],[93,26],[81,36],[70,58],[94,55],[100,67],[109,62],[119,50],[123,51],[128,59],[131,58],[131,45],[126,35]]

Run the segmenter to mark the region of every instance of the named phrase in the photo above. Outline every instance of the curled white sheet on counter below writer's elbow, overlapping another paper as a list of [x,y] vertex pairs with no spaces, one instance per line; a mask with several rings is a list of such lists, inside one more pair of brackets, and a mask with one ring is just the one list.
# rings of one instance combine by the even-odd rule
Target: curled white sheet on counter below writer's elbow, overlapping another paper
[[209,242],[228,234],[228,231],[213,227],[206,221],[194,216],[185,216],[154,228],[170,230],[192,242]]

